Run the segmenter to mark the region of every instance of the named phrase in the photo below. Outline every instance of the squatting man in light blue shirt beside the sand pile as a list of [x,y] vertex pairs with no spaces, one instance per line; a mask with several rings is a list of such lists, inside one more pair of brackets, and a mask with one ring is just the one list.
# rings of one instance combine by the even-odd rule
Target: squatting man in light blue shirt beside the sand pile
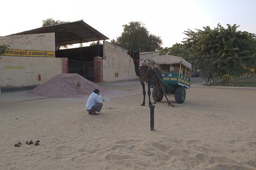
[[86,111],[91,115],[99,115],[96,112],[101,111],[104,101],[104,99],[99,98],[99,90],[95,89],[86,102]]

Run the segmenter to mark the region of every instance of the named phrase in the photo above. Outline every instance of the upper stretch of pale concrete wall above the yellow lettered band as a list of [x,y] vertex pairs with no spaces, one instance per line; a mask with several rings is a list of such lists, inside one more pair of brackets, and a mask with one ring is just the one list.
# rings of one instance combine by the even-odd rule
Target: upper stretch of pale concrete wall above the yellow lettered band
[[55,51],[55,33],[9,35],[0,37],[0,45],[10,49]]

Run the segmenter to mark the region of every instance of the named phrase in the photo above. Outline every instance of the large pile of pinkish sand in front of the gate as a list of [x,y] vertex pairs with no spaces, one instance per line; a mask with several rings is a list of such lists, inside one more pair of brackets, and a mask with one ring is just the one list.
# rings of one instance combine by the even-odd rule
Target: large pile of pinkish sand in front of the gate
[[104,91],[103,88],[79,74],[58,74],[29,93],[50,98],[79,97],[91,94],[96,88],[101,92]]

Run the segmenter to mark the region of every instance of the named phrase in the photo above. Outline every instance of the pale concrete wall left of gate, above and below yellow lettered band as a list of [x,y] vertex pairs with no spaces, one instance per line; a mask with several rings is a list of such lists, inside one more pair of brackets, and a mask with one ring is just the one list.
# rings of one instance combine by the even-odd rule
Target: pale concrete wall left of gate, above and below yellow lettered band
[[[55,51],[55,33],[11,35],[0,37],[0,45],[10,49]],[[1,56],[0,87],[15,88],[40,85],[62,73],[62,59],[55,57]],[[41,74],[41,81],[38,79]]]

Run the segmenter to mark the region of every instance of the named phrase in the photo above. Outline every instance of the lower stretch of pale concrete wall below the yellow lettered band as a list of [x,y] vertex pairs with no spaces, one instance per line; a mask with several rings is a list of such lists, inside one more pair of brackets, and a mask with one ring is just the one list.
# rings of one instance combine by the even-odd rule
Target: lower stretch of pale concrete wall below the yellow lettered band
[[[0,87],[41,85],[60,73],[62,73],[62,58],[2,56],[0,60]],[[41,74],[41,81],[38,80],[38,74]]]

